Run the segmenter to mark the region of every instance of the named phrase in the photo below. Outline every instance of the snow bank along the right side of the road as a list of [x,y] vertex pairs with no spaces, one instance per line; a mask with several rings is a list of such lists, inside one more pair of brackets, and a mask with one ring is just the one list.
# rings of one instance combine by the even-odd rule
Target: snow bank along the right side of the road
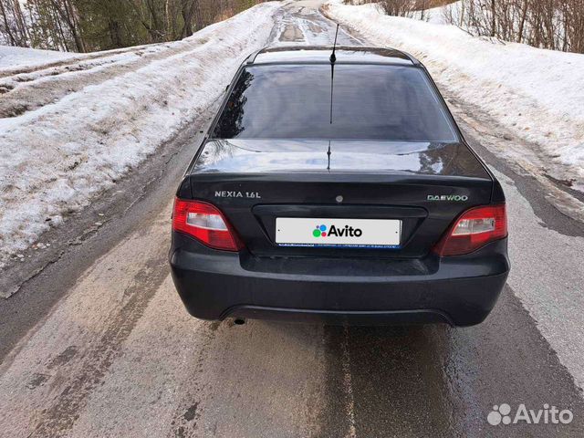
[[584,55],[493,42],[455,26],[385,16],[376,5],[333,0],[325,9],[371,43],[412,53],[441,86],[584,178]]

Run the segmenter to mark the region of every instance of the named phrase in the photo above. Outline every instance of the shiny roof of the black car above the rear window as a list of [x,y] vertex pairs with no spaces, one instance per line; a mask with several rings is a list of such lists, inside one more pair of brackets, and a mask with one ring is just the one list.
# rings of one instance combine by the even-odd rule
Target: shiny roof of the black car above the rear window
[[[332,46],[266,47],[247,58],[246,64],[319,64],[330,63]],[[398,64],[417,66],[420,62],[394,48],[338,46],[336,64]]]

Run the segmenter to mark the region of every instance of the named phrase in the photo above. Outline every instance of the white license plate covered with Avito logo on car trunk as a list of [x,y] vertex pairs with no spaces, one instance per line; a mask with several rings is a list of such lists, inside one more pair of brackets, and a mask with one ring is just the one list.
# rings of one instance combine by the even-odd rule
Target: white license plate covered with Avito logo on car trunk
[[400,243],[399,220],[276,218],[277,245],[399,248]]

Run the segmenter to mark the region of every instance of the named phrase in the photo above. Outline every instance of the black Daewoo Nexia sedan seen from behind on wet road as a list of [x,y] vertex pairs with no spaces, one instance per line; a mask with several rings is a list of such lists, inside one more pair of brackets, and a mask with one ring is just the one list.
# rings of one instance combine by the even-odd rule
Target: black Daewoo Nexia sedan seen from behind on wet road
[[509,272],[505,196],[422,64],[372,47],[248,57],[180,184],[197,318],[470,326]]

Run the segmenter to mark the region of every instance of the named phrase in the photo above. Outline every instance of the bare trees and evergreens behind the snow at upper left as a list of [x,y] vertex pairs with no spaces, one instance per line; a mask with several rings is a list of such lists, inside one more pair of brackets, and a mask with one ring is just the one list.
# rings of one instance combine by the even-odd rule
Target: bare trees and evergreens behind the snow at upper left
[[0,44],[68,52],[192,36],[266,0],[0,0]]

